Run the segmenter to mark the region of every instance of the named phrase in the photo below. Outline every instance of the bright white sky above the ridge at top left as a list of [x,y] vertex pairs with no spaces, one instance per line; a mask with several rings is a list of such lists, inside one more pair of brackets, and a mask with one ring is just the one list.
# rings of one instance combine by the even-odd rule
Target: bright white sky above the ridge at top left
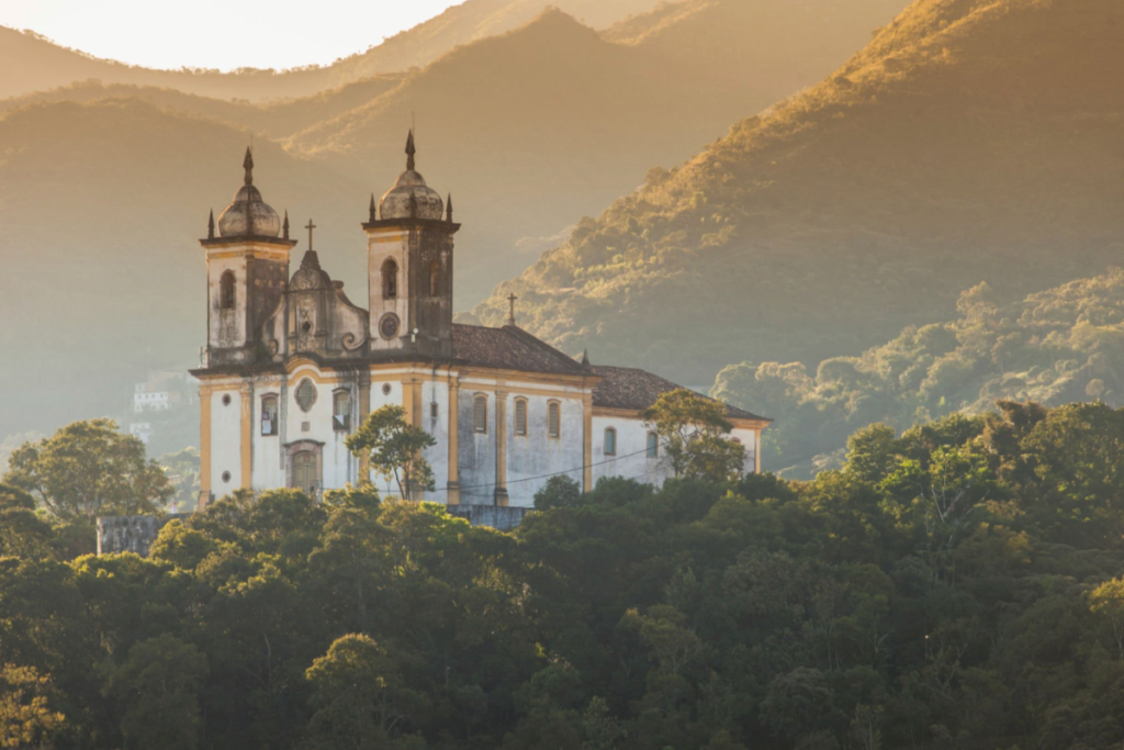
[[294,67],[378,45],[463,0],[0,0],[0,25],[147,67]]

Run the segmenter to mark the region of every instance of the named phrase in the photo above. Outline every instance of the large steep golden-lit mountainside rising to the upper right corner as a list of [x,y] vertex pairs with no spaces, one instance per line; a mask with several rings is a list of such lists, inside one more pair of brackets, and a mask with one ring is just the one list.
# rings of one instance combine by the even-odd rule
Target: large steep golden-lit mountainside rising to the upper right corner
[[921,0],[500,284],[520,323],[686,382],[821,360],[1124,256],[1124,10]]

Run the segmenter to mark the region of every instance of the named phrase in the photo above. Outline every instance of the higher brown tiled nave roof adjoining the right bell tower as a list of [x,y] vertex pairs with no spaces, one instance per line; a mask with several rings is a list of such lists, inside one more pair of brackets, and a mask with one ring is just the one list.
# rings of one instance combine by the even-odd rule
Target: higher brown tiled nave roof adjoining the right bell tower
[[575,361],[517,326],[488,328],[454,323],[453,356],[470,364],[498,370],[593,374],[589,365]]

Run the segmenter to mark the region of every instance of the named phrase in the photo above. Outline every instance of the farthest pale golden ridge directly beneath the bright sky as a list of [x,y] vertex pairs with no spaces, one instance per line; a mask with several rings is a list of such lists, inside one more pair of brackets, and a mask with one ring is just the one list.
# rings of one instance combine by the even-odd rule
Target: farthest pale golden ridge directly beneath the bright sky
[[0,26],[0,99],[90,79],[107,85],[166,88],[218,99],[307,97],[381,73],[424,66],[457,45],[518,28],[547,6],[600,28],[653,4],[655,0],[465,0],[366,52],[323,67],[281,72],[152,70],[93,57],[40,35]]

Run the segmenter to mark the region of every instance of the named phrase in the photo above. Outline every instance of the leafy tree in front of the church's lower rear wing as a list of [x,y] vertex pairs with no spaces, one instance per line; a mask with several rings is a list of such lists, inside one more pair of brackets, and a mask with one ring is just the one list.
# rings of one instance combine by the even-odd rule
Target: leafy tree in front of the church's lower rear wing
[[745,470],[745,448],[726,437],[734,425],[719,401],[678,388],[660,396],[644,421],[660,436],[677,477],[722,481]]

